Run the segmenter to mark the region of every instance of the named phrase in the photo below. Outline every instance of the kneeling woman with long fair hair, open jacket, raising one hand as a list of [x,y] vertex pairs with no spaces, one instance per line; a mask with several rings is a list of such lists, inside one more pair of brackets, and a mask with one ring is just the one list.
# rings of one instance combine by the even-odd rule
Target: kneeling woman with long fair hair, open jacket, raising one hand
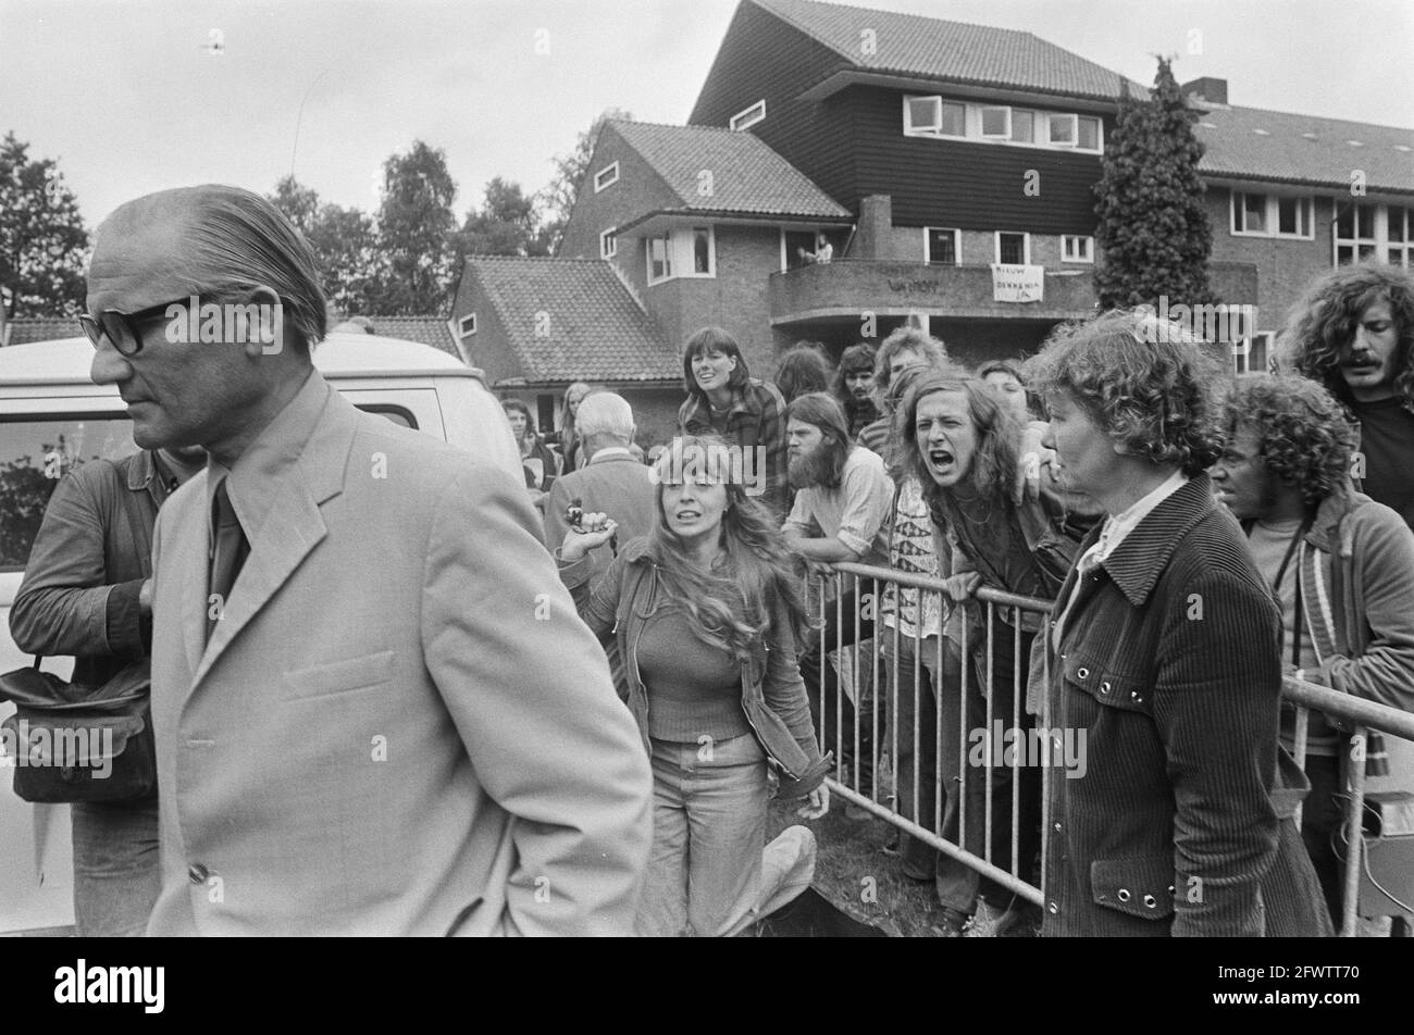
[[[598,575],[585,556],[615,522],[587,515],[560,550],[580,616],[617,656],[615,682],[653,765],[653,851],[641,935],[730,936],[810,882],[814,837],[790,827],[762,854],[768,764],[781,796],[823,816],[830,766],[816,744],[796,645],[800,580],[775,519],[731,478],[727,443],[677,438],[655,468],[649,536]],[[612,639],[611,639],[612,638]]]

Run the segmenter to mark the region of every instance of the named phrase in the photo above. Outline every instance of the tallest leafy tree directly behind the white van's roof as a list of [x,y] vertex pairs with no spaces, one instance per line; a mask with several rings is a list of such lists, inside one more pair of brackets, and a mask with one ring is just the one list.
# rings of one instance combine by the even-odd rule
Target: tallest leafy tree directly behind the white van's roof
[[457,184],[441,148],[421,140],[407,154],[383,163],[383,204],[378,212],[378,243],[387,262],[375,291],[389,315],[436,315],[443,311],[451,279],[450,238],[455,226],[451,204]]

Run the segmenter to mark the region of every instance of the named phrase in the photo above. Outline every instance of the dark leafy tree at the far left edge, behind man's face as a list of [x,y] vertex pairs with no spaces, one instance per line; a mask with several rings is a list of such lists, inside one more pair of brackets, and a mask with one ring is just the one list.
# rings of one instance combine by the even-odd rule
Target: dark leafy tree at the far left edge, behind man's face
[[13,293],[11,317],[72,317],[89,235],[58,163],[31,161],[28,148],[14,133],[0,143],[0,287]]

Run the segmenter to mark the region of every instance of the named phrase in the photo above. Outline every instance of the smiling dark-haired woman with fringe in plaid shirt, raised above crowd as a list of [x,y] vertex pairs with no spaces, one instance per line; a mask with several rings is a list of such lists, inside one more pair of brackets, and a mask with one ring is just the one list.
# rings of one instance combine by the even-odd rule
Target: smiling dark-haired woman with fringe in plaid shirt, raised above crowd
[[[761,502],[775,520],[790,509],[786,468],[786,400],[781,389],[751,376],[737,339],[720,327],[704,327],[683,348],[683,387],[677,411],[683,434],[718,434],[742,455],[742,469],[762,479]],[[762,467],[764,465],[764,469]]]

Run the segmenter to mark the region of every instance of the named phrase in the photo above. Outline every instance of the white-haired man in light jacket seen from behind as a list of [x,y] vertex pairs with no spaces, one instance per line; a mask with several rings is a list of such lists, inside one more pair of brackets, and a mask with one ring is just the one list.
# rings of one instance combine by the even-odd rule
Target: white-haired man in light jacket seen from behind
[[[575,499],[584,513],[605,513],[618,522],[621,543],[646,536],[653,527],[653,479],[632,454],[633,410],[612,392],[595,392],[580,403],[575,417],[580,447],[588,462],[556,479],[544,508],[544,542],[551,551],[570,527],[566,510]],[[605,550],[590,554],[595,570],[609,563]]]

